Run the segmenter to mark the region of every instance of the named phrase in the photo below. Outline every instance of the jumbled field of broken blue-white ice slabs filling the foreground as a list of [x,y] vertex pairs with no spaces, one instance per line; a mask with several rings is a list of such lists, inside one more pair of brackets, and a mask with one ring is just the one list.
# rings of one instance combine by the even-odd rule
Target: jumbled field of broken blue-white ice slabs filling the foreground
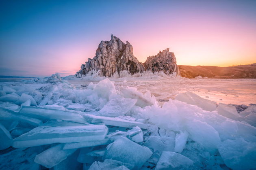
[[0,89],[0,169],[256,169],[253,105],[238,114],[185,93],[160,106],[109,79],[86,88],[57,74],[30,83],[46,84]]

